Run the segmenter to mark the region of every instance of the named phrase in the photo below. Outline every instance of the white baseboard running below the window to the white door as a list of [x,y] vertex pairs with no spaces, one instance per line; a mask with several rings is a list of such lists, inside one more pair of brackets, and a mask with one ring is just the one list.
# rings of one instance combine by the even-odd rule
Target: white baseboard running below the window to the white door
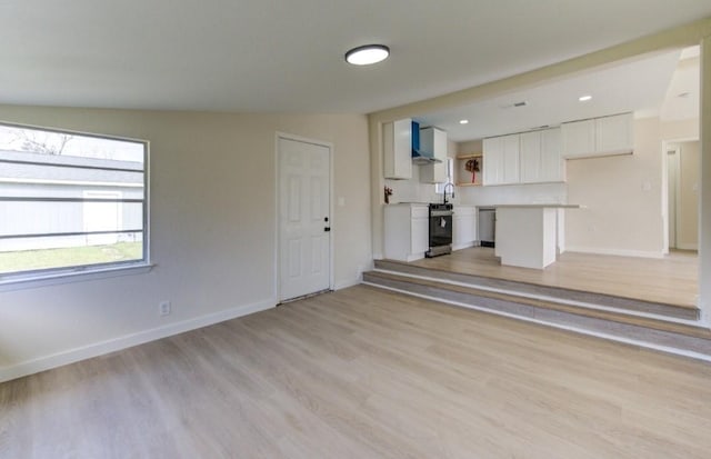
[[150,330],[139,331],[138,333],[127,335],[123,337],[96,342],[93,345],[83,346],[81,348],[69,349],[52,356],[40,357],[38,359],[24,361],[10,367],[0,368],[0,382],[11,379],[21,378],[23,376],[33,375],[40,371],[49,370],[64,365],[73,363],[80,360],[90,359],[92,357],[103,356],[121,349],[131,348],[133,346],[143,345],[149,341],[156,341],[173,335],[183,333],[202,327],[208,327],[226,320],[236,319],[238,317],[248,316],[254,312],[271,309],[277,305],[274,299],[260,301],[253,305],[243,305],[236,308],[227,309],[219,312],[200,316],[194,319],[183,320],[182,322],[170,323],[163,327]]

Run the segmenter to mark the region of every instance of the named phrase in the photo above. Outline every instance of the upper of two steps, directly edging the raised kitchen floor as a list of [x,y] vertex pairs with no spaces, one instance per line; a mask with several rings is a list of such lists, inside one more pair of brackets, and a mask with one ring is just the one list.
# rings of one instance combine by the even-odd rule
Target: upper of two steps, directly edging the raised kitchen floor
[[520,282],[493,277],[468,275],[462,272],[445,271],[441,269],[425,268],[393,260],[375,260],[375,270],[394,272],[405,276],[435,279],[442,282],[452,282],[475,287],[482,290],[500,291],[524,298],[545,299],[569,305],[588,306],[630,313],[669,317],[680,320],[699,320],[700,312],[697,308],[679,305],[670,305],[642,299],[619,297],[607,293],[574,290],[564,287],[544,286],[538,283]]

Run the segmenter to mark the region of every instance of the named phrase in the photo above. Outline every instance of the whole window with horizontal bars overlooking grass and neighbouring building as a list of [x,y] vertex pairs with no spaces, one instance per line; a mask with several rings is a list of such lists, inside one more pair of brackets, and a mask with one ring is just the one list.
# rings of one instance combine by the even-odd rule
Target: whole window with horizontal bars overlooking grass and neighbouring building
[[0,124],[0,281],[148,265],[148,142]]

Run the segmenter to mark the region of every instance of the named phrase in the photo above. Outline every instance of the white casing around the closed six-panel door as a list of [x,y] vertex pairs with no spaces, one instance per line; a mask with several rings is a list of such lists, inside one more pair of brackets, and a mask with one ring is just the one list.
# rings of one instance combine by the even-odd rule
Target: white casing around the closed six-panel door
[[309,139],[292,133],[277,131],[274,134],[274,300],[279,305],[281,299],[281,202],[280,202],[280,173],[279,167],[279,140],[292,140],[302,143],[311,143],[319,147],[328,148],[329,150],[329,223],[331,231],[329,231],[329,290],[333,290],[333,232],[336,230],[334,207],[333,207],[333,143],[323,140]]

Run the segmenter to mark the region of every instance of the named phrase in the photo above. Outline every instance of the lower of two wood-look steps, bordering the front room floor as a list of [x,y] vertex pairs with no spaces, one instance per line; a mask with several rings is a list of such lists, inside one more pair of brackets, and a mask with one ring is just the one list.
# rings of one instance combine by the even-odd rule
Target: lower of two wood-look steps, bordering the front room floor
[[364,272],[363,282],[447,303],[711,360],[711,330],[691,321],[680,323],[673,319],[664,320],[663,317],[645,317],[637,311],[595,309],[550,298],[531,298],[482,289],[459,281],[452,283],[417,275],[385,272],[380,268]]

